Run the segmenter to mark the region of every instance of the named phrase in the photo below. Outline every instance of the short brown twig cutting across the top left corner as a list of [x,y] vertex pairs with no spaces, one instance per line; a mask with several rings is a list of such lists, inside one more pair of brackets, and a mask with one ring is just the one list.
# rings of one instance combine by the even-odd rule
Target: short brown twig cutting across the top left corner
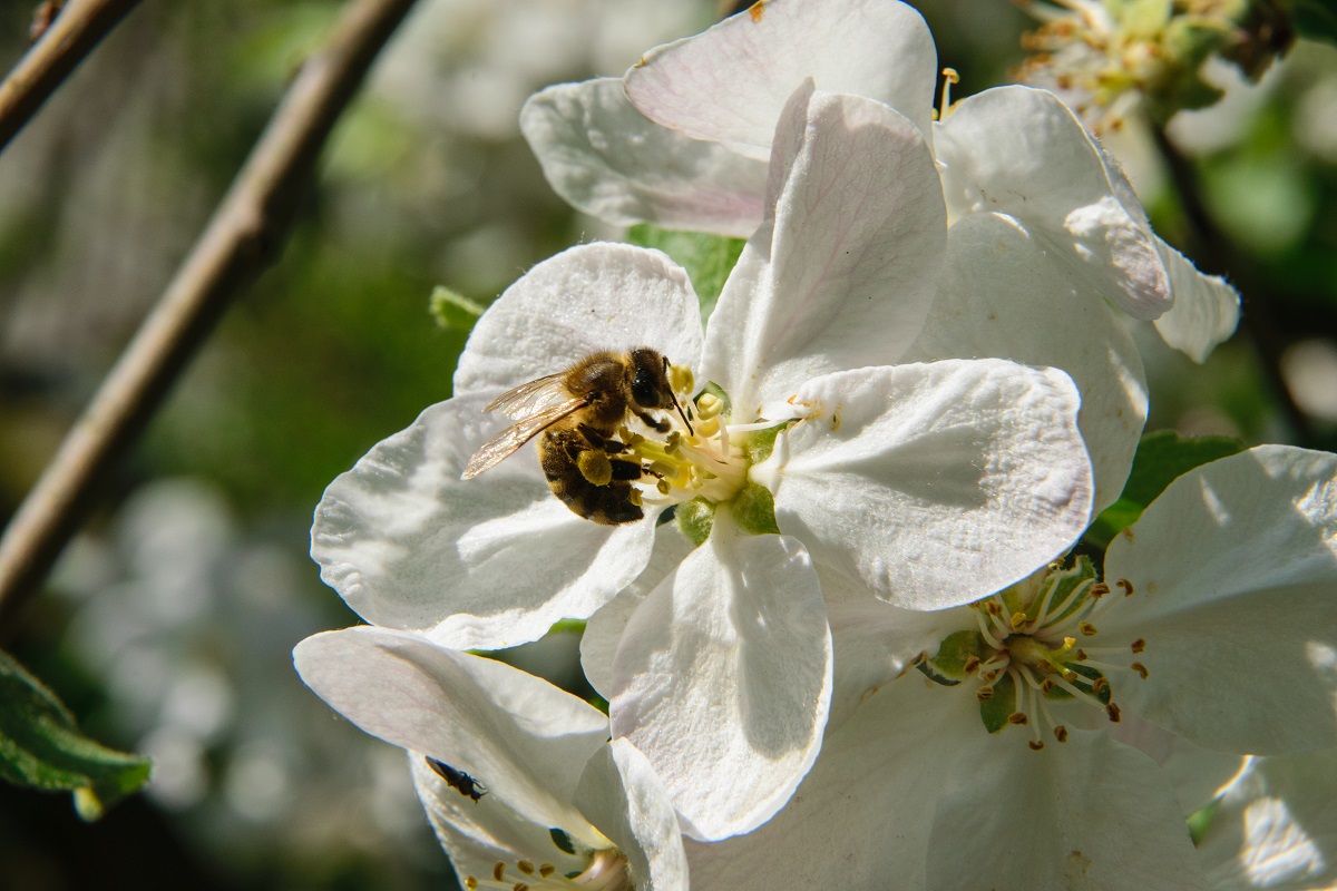
[[0,151],[139,0],[68,0],[0,83]]

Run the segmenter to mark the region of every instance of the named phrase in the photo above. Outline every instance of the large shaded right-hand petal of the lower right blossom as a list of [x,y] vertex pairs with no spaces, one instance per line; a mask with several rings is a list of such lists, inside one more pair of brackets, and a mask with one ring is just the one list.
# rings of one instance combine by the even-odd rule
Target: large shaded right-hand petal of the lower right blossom
[[1259,446],[1193,470],[1111,542],[1136,592],[1102,637],[1146,640],[1126,708],[1205,748],[1337,745],[1337,456]]

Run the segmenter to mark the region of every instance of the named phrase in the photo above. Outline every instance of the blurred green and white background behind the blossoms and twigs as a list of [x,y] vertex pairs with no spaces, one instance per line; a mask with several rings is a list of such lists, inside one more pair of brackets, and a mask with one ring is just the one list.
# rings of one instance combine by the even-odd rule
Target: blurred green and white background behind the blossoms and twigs
[[[35,1],[0,4],[0,68]],[[916,3],[960,98],[1012,80],[1034,19]],[[0,154],[0,517],[32,486],[189,251],[333,0],[144,0]],[[558,199],[520,104],[618,75],[729,12],[714,0],[420,0],[322,156],[279,263],[245,293],[106,481],[12,652],[99,740],[154,759],[146,792],[84,824],[67,795],[0,785],[0,890],[451,888],[402,753],[298,681],[291,648],[357,622],[306,556],[324,486],[451,395],[465,331],[535,262],[620,232]],[[1226,83],[1230,71],[1218,72]],[[1148,429],[1337,445],[1337,49],[1300,41],[1258,85],[1170,127],[1230,273],[1263,319],[1205,365],[1142,326]],[[1107,136],[1158,231],[1190,212],[1150,135]],[[1219,258],[1211,258],[1219,262]],[[1259,357],[1263,358],[1259,358]],[[1281,406],[1277,381],[1294,411]],[[580,691],[575,633],[509,657]]]

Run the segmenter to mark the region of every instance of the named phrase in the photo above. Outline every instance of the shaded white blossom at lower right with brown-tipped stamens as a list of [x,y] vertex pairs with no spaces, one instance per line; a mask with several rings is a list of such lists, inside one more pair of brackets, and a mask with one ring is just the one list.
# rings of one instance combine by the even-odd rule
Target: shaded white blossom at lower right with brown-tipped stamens
[[[940,613],[826,584],[822,755],[765,827],[689,844],[694,880],[1207,888],[1185,823],[1205,776],[1337,743],[1337,456],[1261,446],[1185,474],[1104,580],[1076,561]],[[1123,716],[1223,755],[1186,771],[1147,733],[1100,731]]]

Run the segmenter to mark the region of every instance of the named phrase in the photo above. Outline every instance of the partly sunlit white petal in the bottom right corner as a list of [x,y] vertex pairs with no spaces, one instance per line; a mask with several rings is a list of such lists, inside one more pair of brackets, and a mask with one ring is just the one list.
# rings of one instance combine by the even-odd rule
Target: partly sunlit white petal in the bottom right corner
[[1337,749],[1254,759],[1198,847],[1217,891],[1337,887]]

